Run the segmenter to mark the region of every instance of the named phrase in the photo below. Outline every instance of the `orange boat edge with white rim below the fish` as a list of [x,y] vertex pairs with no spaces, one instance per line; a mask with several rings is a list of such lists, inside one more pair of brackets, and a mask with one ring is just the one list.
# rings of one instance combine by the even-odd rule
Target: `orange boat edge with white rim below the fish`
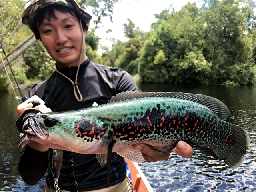
[[138,163],[126,158],[124,160],[130,168],[133,192],[154,192]]

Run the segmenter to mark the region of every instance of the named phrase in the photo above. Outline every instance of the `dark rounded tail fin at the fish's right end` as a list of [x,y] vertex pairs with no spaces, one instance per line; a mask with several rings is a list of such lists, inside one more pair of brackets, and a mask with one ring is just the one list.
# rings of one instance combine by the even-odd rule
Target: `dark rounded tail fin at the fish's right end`
[[213,149],[213,151],[234,170],[244,161],[246,150],[250,149],[250,139],[243,128],[230,123],[230,134],[226,136],[225,140],[227,145],[224,150]]

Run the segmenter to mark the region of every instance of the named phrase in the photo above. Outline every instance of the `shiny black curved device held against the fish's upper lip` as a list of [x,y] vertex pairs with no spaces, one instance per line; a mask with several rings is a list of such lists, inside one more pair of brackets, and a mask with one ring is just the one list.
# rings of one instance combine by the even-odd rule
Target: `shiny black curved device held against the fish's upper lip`
[[29,125],[28,125],[28,119],[30,117],[35,116],[38,113],[42,113],[40,110],[31,108],[25,110],[21,116],[16,120],[16,127],[18,128],[19,132],[23,133],[24,130],[27,130]]

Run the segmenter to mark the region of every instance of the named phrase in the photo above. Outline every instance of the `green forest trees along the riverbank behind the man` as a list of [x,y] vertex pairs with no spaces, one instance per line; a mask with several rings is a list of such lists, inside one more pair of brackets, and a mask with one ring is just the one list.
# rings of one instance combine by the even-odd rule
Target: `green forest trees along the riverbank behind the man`
[[[256,84],[254,0],[201,0],[201,7],[188,2],[179,11],[170,6],[154,15],[156,22],[149,31],[127,18],[123,26],[128,41],[112,39],[112,48],[102,47],[95,31],[100,30],[103,17],[112,20],[116,2],[78,0],[96,16],[86,35],[90,60],[122,68],[141,83]],[[21,22],[28,3],[30,0],[0,1],[0,42],[18,83],[27,86],[49,78],[54,72],[49,63],[55,64]],[[97,53],[99,48],[102,55]],[[10,68],[2,52],[0,58],[0,90],[5,90],[10,87],[6,73],[10,74]]]

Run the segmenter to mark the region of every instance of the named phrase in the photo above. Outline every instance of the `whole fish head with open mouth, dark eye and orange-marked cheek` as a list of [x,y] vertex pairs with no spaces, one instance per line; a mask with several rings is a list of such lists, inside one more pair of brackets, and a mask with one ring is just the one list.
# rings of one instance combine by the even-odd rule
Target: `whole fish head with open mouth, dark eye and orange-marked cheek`
[[104,124],[95,118],[71,113],[37,114],[28,120],[24,131],[31,140],[50,148],[78,153],[93,153],[100,148],[106,132]]

